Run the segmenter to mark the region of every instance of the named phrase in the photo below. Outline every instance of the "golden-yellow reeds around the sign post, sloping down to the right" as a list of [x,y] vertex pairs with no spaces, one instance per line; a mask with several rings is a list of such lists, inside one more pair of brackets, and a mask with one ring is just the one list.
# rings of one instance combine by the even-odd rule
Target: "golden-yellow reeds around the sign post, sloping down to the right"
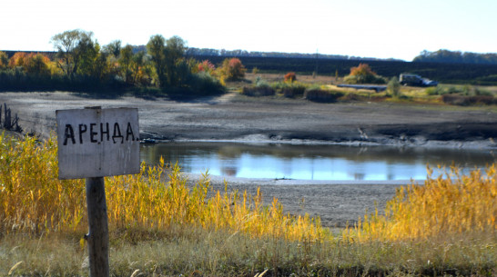
[[[0,231],[74,232],[86,228],[85,184],[57,179],[56,143],[50,138],[0,136]],[[321,240],[319,219],[291,217],[262,195],[210,192],[208,176],[192,188],[177,165],[141,165],[141,173],[106,178],[109,227],[117,232],[161,232],[171,224],[244,232],[253,237]],[[208,193],[214,196],[208,197]]]

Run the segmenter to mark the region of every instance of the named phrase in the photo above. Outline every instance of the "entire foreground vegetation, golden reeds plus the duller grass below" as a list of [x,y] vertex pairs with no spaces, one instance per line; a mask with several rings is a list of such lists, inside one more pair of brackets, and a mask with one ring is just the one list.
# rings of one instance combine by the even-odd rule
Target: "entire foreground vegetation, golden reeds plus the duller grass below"
[[[88,274],[85,187],[56,178],[56,143],[0,136],[0,274]],[[186,185],[177,166],[106,178],[113,276],[497,274],[497,173],[401,188],[385,215],[343,230],[275,199]]]

